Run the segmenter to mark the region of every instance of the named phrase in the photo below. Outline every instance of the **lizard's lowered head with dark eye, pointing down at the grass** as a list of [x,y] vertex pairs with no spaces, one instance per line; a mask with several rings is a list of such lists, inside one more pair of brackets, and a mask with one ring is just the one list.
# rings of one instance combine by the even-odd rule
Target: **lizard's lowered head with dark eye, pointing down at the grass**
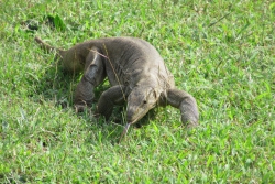
[[127,121],[134,123],[155,107],[160,93],[153,87],[135,87],[128,96]]

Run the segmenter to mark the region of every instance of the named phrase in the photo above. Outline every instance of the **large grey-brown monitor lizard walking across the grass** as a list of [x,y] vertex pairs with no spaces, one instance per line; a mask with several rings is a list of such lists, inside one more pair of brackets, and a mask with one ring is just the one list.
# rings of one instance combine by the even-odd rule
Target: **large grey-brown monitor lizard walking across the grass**
[[127,125],[121,138],[155,106],[178,108],[184,125],[198,126],[196,99],[176,88],[173,74],[148,42],[138,37],[103,37],[62,50],[37,36],[35,41],[45,51],[55,51],[66,72],[84,73],[74,95],[76,111],[92,105],[94,89],[108,77],[111,87],[99,97],[96,115],[108,120],[116,105],[127,104]]

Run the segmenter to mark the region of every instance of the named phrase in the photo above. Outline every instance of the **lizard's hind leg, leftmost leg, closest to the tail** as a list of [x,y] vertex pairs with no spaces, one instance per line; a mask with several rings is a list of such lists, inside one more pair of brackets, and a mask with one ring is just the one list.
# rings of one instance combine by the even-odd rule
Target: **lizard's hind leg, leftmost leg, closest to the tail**
[[95,97],[94,89],[106,78],[106,69],[102,57],[97,47],[92,47],[86,57],[84,76],[77,85],[74,104],[76,111],[82,111],[91,106]]

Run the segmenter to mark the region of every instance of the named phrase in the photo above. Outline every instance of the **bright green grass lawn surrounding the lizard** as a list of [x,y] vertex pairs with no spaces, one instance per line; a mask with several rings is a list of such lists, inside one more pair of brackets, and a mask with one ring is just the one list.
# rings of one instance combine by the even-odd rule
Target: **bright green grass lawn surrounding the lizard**
[[[28,0],[0,1],[0,183],[275,183],[274,2]],[[76,115],[80,76],[64,74],[34,35],[64,48],[151,42],[196,97],[200,127],[160,108],[118,144],[123,111],[111,123]]]

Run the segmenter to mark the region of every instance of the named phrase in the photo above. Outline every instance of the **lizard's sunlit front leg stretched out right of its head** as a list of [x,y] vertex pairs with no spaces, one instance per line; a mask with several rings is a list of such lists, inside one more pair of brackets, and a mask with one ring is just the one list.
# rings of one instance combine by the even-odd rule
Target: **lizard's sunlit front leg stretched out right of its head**
[[197,127],[199,112],[196,99],[188,93],[178,89],[168,89],[166,96],[162,95],[163,105],[170,105],[182,112],[182,121],[187,127]]

